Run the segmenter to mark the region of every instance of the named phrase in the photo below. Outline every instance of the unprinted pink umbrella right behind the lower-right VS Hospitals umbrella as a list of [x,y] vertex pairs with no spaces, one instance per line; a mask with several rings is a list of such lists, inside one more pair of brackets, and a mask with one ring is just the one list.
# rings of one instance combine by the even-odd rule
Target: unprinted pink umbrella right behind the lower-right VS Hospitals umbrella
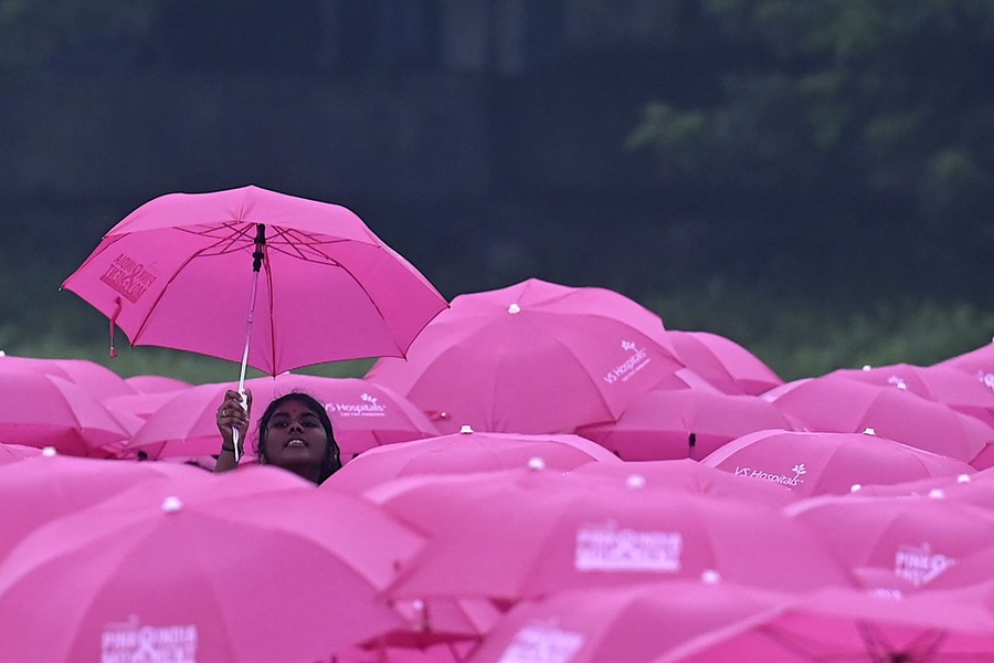
[[781,394],[773,404],[811,431],[876,434],[970,462],[994,442],[983,422],[906,389],[821,377]]

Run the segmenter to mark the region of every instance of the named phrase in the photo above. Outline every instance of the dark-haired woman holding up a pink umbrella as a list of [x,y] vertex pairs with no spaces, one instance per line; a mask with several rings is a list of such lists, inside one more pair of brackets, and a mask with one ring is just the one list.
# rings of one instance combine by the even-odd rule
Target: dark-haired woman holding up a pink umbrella
[[[252,392],[246,390],[247,410],[239,392],[229,390],[218,408],[221,454],[214,472],[229,472],[239,466],[234,460],[232,430],[239,431],[240,444],[248,432]],[[240,451],[241,451],[240,446]],[[293,472],[316,484],[341,467],[331,419],[314,397],[294,391],[269,403],[258,420],[258,462]]]

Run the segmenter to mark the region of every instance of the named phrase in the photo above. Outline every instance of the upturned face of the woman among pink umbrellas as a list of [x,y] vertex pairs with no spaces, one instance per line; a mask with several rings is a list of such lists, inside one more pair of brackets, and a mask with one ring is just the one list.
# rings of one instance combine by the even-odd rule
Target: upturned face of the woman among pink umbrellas
[[328,435],[318,415],[304,403],[281,403],[266,424],[266,459],[278,467],[320,467],[328,453]]

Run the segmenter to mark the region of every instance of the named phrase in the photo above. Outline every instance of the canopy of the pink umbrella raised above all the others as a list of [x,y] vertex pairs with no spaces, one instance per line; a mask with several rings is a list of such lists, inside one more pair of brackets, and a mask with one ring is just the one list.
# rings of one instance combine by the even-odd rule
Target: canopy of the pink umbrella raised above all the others
[[63,287],[131,345],[245,360],[268,375],[403,357],[446,307],[350,210],[251,186],[142,204]]

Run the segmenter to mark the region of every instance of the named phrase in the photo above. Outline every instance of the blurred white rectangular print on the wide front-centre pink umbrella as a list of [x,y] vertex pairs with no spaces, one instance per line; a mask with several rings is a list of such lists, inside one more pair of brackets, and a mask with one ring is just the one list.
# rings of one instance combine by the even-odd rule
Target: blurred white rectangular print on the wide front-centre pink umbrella
[[578,571],[680,570],[684,537],[679,532],[618,529],[614,524],[577,530]]

